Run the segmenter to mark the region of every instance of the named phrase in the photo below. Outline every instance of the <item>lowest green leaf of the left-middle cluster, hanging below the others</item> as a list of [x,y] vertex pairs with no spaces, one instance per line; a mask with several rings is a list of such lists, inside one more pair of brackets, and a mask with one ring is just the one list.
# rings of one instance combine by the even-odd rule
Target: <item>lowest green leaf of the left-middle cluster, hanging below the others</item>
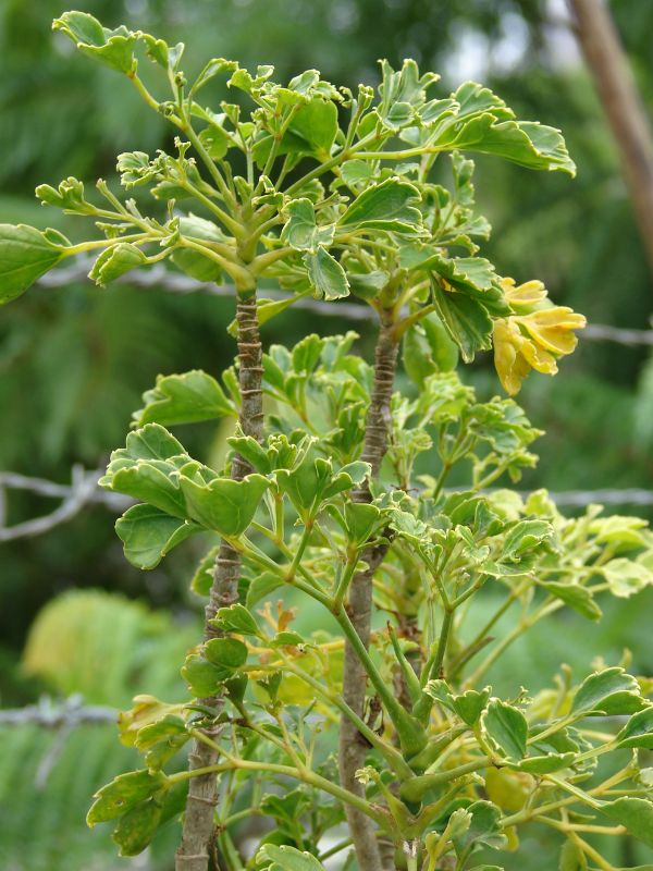
[[132,565],[150,569],[182,541],[201,532],[201,528],[171,517],[152,505],[133,505],[116,520],[115,531]]

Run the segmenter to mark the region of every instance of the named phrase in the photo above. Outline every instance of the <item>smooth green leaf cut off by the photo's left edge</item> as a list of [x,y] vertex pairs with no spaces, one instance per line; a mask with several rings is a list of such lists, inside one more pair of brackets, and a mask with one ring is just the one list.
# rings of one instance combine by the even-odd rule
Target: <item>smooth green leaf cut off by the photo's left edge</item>
[[0,305],[15,299],[65,257],[69,241],[56,231],[0,224]]

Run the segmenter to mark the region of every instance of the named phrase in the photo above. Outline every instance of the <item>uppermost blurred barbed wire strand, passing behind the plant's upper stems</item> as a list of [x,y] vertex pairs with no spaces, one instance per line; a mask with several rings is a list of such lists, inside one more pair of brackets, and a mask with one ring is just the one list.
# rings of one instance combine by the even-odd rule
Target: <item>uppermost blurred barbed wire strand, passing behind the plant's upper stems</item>
[[[87,273],[93,266],[91,258],[82,257],[70,267],[57,269],[39,279],[42,287],[61,287],[87,281]],[[135,270],[127,275],[116,279],[118,284],[130,284],[135,287],[160,290],[169,293],[205,293],[211,296],[232,296],[233,287],[227,284],[214,284],[210,281],[197,281],[180,272],[170,272],[164,266],[156,265],[149,269]],[[264,290],[264,295],[270,299],[285,299],[287,294],[275,290]],[[344,317],[350,320],[369,320],[369,306],[357,303],[332,302],[300,296],[293,304],[295,308],[328,317]],[[609,327],[603,323],[589,323],[583,333],[583,339],[592,342],[615,342],[619,345],[634,347],[638,345],[653,346],[653,330],[630,330],[620,327]]]

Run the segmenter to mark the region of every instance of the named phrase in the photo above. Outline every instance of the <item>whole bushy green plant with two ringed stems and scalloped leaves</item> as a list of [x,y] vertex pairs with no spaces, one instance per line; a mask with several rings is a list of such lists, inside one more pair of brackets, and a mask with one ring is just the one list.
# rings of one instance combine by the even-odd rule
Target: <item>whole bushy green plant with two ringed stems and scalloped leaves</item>
[[[438,94],[412,61],[382,63],[378,89],[356,94],[313,70],[284,86],[269,66],[223,59],[188,82],[181,45],[82,12],[54,26],[174,125],[176,152],[120,155],[137,200],[103,181],[88,199],[76,179],[37,188],[98,232],[72,243],[3,225],[3,302],[79,252],[98,253],[100,284],[167,260],[233,283],[237,341],[221,382],[158,379],[101,480],[137,502],[116,524],[136,566],[189,537],[214,541],[192,580],[208,604],[182,667],[189,695],[141,696],[121,716],[143,766],[100,789],[88,823],[110,821],[131,856],[181,817],[177,871],[319,871],[328,858],[498,871],[533,822],[566,871],[614,871],[597,834],[653,846],[653,772],[638,758],[653,748],[650,682],[621,664],[563,668],[532,698],[486,685],[538,621],[563,608],[599,619],[597,597],[653,582],[643,522],[596,506],[568,519],[543,491],[525,502],[489,489],[533,465],[540,433],[513,400],[479,403],[454,371],[458,353],[494,344],[516,393],[529,368],[553,373],[574,349],[581,316],[478,256],[490,228],[464,156],[572,174],[560,134],[473,83]],[[139,77],[145,58],[160,91]],[[238,102],[207,105],[215,76]],[[436,159],[449,186],[432,180]],[[287,295],[259,298],[263,279]],[[259,326],[300,297],[349,294],[377,320],[373,361],[352,351],[354,333],[262,352]],[[393,392],[402,345],[405,393]],[[234,427],[221,468],[169,431],[223,417]],[[455,491],[452,471],[465,481]],[[332,630],[300,635],[288,593]],[[496,634],[504,615],[512,628]],[[244,855],[255,814],[264,834]]]

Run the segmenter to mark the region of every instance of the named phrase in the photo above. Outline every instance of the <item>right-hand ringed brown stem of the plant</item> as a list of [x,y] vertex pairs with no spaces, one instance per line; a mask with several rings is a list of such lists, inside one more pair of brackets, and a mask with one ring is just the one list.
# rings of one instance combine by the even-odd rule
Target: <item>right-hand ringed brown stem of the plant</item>
[[[394,373],[397,361],[397,340],[393,324],[382,320],[374,356],[374,387],[368,410],[362,459],[372,467],[377,476],[387,450],[391,425],[390,401],[394,385]],[[369,502],[371,494],[365,484],[354,490],[355,502]],[[385,555],[385,548],[375,547],[367,550],[361,559],[368,564],[365,572],[357,573],[349,586],[347,613],[367,647],[370,641],[372,614],[372,578],[375,569]],[[355,713],[365,714],[367,676],[356,651],[347,641],[345,645],[345,664],[343,674],[343,699]],[[365,787],[356,780],[356,771],[365,765],[367,741],[356,726],[347,717],[341,722],[338,768],[341,784],[356,795],[365,795]],[[384,862],[379,851],[377,832],[373,822],[356,808],[347,807],[347,823],[356,849],[356,858],[360,871],[380,871]]]

